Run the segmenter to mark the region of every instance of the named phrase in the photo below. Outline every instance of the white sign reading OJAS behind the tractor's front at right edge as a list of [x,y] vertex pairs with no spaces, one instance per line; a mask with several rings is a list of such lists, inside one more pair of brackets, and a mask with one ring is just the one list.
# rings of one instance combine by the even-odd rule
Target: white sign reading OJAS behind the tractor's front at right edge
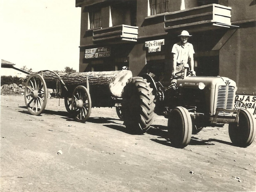
[[256,95],[236,95],[235,100],[235,108],[246,108],[256,118]]

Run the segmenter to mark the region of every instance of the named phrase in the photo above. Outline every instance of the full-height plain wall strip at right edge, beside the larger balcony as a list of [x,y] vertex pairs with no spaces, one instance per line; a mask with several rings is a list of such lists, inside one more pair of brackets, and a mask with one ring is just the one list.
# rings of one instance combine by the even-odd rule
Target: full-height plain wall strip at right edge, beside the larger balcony
[[[220,75],[237,83],[237,93],[256,93],[256,3],[252,0],[229,0],[231,22],[239,26],[227,31],[220,49]],[[245,14],[246,13],[246,14]]]

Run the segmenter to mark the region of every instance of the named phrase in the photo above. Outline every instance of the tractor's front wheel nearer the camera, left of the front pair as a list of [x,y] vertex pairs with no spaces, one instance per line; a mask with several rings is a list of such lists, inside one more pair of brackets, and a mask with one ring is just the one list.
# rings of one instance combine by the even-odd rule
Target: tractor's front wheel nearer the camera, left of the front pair
[[176,147],[186,147],[192,134],[192,120],[188,110],[175,107],[168,118],[168,137]]

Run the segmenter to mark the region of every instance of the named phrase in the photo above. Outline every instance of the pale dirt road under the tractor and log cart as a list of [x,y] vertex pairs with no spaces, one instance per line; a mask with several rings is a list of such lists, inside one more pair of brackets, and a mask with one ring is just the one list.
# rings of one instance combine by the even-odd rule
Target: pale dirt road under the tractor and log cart
[[227,126],[207,127],[177,149],[164,117],[132,135],[115,108],[93,108],[79,123],[58,104],[48,99],[32,116],[23,97],[1,95],[1,192],[255,191],[256,142],[233,146]]

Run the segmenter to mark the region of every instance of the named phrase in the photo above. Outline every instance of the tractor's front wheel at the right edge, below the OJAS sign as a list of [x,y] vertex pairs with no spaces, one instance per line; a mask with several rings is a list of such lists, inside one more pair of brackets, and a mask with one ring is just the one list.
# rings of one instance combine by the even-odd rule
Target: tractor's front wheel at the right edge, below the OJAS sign
[[255,137],[256,123],[246,109],[241,109],[238,123],[229,123],[228,134],[233,144],[239,147],[249,146]]

